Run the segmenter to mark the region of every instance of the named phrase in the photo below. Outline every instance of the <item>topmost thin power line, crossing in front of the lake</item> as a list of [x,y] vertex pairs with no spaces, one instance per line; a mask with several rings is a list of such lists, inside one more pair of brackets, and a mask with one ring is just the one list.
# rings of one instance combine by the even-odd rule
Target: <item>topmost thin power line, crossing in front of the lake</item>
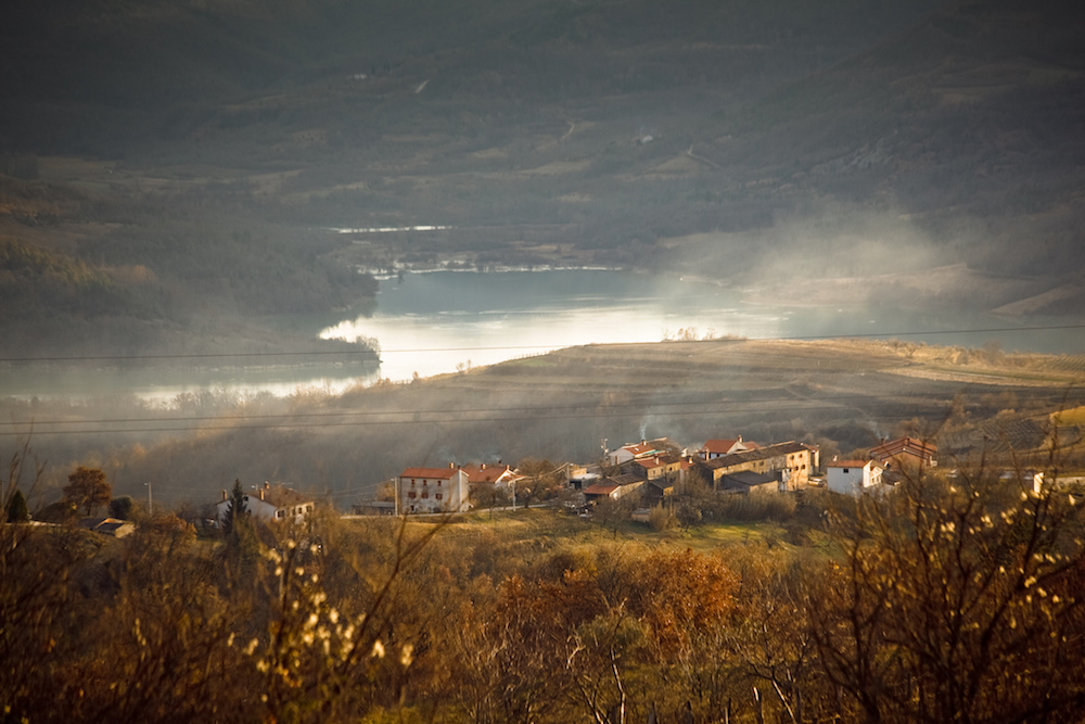
[[[1085,323],[1080,325],[1042,325],[1036,327],[987,327],[974,329],[943,329],[943,330],[912,330],[897,332],[855,332],[846,334],[805,334],[795,336],[741,336],[735,339],[716,338],[709,340],[690,340],[690,342],[804,342],[814,340],[852,340],[852,339],[893,339],[898,336],[926,336],[941,334],[995,334],[1005,332],[1044,332],[1085,329]],[[682,340],[663,340],[663,342],[682,342]],[[609,345],[618,344],[656,344],[656,342],[608,342]],[[319,357],[334,355],[383,355],[383,354],[417,354],[435,352],[499,352],[516,350],[563,350],[584,344],[561,345],[561,344],[519,344],[519,345],[497,345],[497,346],[468,346],[468,347],[419,347],[409,350],[314,350],[310,352],[224,352],[207,354],[161,354],[161,355],[73,355],[68,357],[0,357],[0,364],[26,364],[26,363],[55,363],[55,361],[138,361],[138,360],[162,360],[162,359],[232,359],[232,358],[265,358],[265,357]]]

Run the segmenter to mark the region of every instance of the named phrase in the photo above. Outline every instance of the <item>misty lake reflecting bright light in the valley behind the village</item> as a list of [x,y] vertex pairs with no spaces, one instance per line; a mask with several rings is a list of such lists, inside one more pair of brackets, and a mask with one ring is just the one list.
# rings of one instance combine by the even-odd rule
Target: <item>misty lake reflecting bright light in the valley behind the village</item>
[[[1085,353],[1081,329],[1035,329],[1067,319],[1005,319],[961,312],[930,314],[895,307],[845,309],[744,304],[739,290],[642,272],[431,271],[381,281],[376,305],[347,319],[293,319],[314,338],[375,338],[379,370],[247,368],[193,371],[12,368],[0,396],[133,394],[167,402],[205,390],[285,395],[299,386],[337,392],[378,378],[408,380],[591,343],[659,342],[684,330],[697,336],[810,339],[870,335],[978,347],[998,340],[1006,351]],[[969,331],[983,330],[983,331]],[[228,352],[228,351],[224,351]]]

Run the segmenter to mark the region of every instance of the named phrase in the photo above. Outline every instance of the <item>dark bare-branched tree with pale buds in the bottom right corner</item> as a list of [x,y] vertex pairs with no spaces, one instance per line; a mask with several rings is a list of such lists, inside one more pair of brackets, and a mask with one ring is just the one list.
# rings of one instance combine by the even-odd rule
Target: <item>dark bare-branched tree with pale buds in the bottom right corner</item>
[[866,721],[1074,721],[1085,681],[1083,516],[981,460],[838,512],[812,595],[820,664]]

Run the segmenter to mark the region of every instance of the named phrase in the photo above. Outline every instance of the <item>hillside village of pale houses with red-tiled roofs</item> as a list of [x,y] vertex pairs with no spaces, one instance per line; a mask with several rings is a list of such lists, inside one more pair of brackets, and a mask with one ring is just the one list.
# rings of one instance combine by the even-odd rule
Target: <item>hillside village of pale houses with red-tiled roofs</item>
[[[445,467],[408,467],[379,487],[375,499],[352,505],[350,517],[448,516],[481,508],[561,507],[590,518],[600,506],[648,522],[653,507],[666,506],[676,490],[699,481],[720,496],[786,495],[808,488],[857,496],[886,492],[905,475],[937,466],[937,447],[906,436],[883,441],[865,459],[822,461],[817,445],[787,441],[762,445],[713,439],[694,450],[666,437],[605,449],[599,461],[551,463],[527,459],[514,467],[497,460]],[[270,483],[244,495],[255,519],[303,522],[319,497]],[[222,491],[217,519],[231,498]]]

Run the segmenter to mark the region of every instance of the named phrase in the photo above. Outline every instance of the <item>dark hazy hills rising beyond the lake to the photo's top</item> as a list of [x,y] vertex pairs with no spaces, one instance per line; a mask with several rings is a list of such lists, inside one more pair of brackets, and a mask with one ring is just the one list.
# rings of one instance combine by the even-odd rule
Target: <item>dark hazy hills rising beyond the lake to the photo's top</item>
[[[371,296],[353,265],[651,267],[792,303],[1083,301],[1070,2],[3,13],[3,325],[29,352],[266,344],[254,315]],[[416,225],[449,228],[321,230]]]

